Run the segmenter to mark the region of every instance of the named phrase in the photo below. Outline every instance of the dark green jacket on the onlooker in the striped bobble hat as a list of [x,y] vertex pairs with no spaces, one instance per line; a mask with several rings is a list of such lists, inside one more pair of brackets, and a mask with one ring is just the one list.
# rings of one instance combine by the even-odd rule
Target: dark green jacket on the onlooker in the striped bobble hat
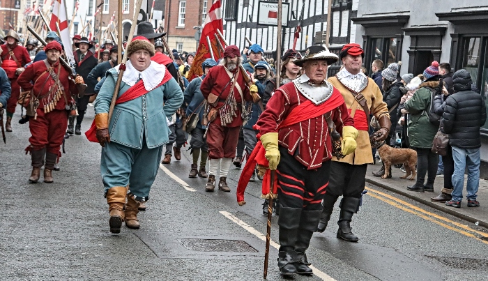
[[436,88],[438,81],[429,81],[420,84],[412,98],[405,102],[404,108],[410,113],[408,134],[410,146],[418,149],[432,148],[432,141],[439,128],[430,123],[427,111],[429,110],[432,91],[426,86]]

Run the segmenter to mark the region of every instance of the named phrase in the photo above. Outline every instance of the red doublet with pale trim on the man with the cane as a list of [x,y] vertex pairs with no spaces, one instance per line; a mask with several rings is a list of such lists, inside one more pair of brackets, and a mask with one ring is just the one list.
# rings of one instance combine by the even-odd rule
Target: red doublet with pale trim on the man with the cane
[[[333,95],[342,95],[337,89]],[[331,97],[332,98],[332,97]],[[344,100],[344,98],[342,98]],[[266,105],[266,110],[261,113],[256,125],[259,126],[261,135],[268,132],[276,132],[277,126],[290,114],[291,110],[307,98],[297,91],[293,83],[287,83],[275,91]],[[327,101],[326,101],[327,102]],[[354,121],[347,112],[344,102],[332,111],[332,119],[337,132],[342,134],[343,126],[353,126]],[[308,119],[283,128],[278,132],[278,142],[288,149],[290,155],[305,165],[307,169],[317,169],[322,162],[332,159],[332,141],[325,117],[322,115],[314,119]],[[298,149],[298,151],[297,151]]]

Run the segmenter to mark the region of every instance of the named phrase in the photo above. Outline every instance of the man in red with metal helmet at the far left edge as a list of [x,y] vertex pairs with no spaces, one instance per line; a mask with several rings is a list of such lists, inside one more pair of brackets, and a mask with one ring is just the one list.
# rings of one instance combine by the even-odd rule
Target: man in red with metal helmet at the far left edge
[[3,107],[7,108],[5,130],[12,132],[12,126],[10,124],[12,123],[12,117],[15,113],[15,107],[17,107],[17,100],[20,95],[20,86],[17,83],[17,78],[25,70],[24,66],[31,62],[31,57],[27,49],[19,45],[20,38],[12,29],[8,31],[3,40],[6,41],[6,44],[0,45],[0,66],[7,73],[12,87],[12,94],[7,104],[3,105]]

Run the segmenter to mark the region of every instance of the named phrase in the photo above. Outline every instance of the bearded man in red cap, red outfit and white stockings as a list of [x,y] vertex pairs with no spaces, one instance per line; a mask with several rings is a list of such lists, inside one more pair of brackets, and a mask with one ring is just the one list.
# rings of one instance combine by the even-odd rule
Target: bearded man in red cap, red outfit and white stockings
[[[257,86],[247,87],[239,69],[242,63],[241,51],[236,45],[225,48],[224,58],[218,66],[214,66],[201,82],[201,93],[208,101],[208,163],[209,176],[205,190],[215,189],[215,176],[220,167],[219,190],[230,192],[227,185],[227,174],[232,159],[236,156],[236,146],[243,118],[249,114],[245,102],[257,96]],[[244,114],[243,114],[244,113]]]

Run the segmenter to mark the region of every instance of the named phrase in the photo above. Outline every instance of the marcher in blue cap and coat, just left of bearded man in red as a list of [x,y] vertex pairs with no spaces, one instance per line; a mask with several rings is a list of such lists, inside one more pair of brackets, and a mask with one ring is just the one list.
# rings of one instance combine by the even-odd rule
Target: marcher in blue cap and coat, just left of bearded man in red
[[[206,102],[204,95],[201,94],[200,85],[208,71],[210,71],[210,69],[214,66],[217,66],[217,61],[214,59],[206,59],[203,63],[201,63],[201,68],[204,70],[204,75],[192,79],[192,82],[190,82],[188,87],[185,89],[185,93],[183,93],[185,103],[188,104],[188,107],[186,108],[186,116],[198,114],[199,120],[195,129],[190,132],[192,135],[192,139],[190,139],[190,147],[192,148],[193,164],[190,168],[190,174],[188,174],[189,178],[196,178],[197,176],[201,178],[207,177],[205,165],[208,158],[208,145],[207,139],[204,137],[207,126],[202,123],[202,121],[204,121]],[[198,169],[199,157],[200,169]]]

